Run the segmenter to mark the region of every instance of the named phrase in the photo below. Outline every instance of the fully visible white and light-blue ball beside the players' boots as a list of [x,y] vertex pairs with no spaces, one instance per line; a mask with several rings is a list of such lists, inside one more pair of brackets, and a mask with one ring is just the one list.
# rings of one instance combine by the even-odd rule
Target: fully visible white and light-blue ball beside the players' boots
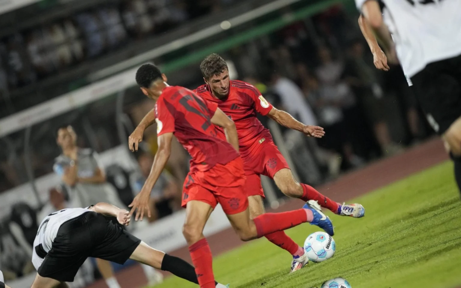
[[307,236],[304,241],[304,251],[312,262],[322,262],[330,259],[335,254],[336,243],[325,232],[315,232]]

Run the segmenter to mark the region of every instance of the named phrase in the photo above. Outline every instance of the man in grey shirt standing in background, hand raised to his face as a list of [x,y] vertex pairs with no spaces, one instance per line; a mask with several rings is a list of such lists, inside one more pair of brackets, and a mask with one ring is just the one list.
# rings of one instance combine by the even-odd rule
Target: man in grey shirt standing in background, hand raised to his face
[[[80,207],[106,202],[124,207],[114,188],[106,182],[103,167],[96,160],[91,149],[77,147],[77,135],[71,126],[58,129],[56,142],[62,154],[55,159],[53,170],[71,190],[71,198],[77,197]],[[72,199],[71,199],[72,200]],[[77,207],[78,207],[77,206]],[[110,262],[96,259],[101,275],[109,288],[120,288]]]

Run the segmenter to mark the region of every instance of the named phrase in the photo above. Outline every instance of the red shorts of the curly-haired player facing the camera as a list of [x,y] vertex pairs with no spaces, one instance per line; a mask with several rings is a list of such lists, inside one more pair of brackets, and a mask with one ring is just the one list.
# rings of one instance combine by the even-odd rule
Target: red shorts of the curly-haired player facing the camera
[[263,142],[259,150],[245,156],[243,165],[245,174],[247,175],[247,182],[245,190],[247,196],[260,195],[264,196],[264,191],[261,186],[261,175],[274,178],[275,173],[284,168],[290,169],[284,155],[278,151],[274,142]]

